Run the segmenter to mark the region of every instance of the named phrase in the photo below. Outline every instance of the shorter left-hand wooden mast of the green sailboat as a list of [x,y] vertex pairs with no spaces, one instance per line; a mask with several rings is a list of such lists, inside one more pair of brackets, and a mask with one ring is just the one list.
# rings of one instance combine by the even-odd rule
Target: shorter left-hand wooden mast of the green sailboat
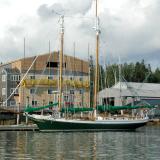
[[63,42],[64,42],[64,16],[61,15],[60,17],[60,29],[61,29],[61,38],[60,38],[60,42],[61,42],[61,46],[60,46],[60,70],[59,70],[59,100],[58,100],[58,109],[59,111],[61,110],[62,107],[62,83],[63,83],[63,79],[62,79],[62,72],[63,72]]

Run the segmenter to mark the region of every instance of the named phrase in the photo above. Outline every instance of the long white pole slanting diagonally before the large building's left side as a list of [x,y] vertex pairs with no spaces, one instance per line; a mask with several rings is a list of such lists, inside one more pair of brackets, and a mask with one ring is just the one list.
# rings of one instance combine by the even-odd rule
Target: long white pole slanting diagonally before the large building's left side
[[37,60],[38,57],[39,57],[39,55],[37,55],[35,57],[35,59],[33,60],[32,64],[31,64],[31,66],[28,68],[27,72],[25,73],[25,75],[23,76],[23,78],[21,79],[21,81],[19,82],[19,84],[17,85],[17,87],[12,91],[12,93],[10,94],[10,96],[6,99],[5,103],[7,103],[7,101],[13,96],[13,94],[18,89],[18,87],[22,84],[23,80],[26,78],[28,72],[31,70],[32,66],[34,65],[34,63],[35,63],[35,61]]

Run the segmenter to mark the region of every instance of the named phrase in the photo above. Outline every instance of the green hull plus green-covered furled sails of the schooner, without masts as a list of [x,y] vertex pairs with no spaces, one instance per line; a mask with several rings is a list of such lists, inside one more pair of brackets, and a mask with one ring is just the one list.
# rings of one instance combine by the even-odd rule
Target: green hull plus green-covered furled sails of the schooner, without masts
[[[40,131],[133,131],[139,127],[147,124],[149,121],[147,115],[143,117],[117,117],[109,116],[102,117],[96,116],[95,119],[89,118],[84,120],[84,118],[62,118],[62,113],[65,113],[65,108],[62,108],[61,112],[54,110],[52,115],[38,115],[29,114],[30,112],[38,111],[40,109],[46,109],[51,106],[56,106],[58,103],[50,104],[47,106],[42,106],[38,108],[28,107],[25,110],[25,115],[31,119],[35,124],[37,124]],[[126,110],[126,109],[139,109],[139,108],[153,108],[153,106],[103,106],[105,111],[115,111],[115,110]],[[101,111],[102,106],[99,106],[97,110]],[[80,113],[80,112],[92,112],[94,108],[70,108],[69,113]]]

